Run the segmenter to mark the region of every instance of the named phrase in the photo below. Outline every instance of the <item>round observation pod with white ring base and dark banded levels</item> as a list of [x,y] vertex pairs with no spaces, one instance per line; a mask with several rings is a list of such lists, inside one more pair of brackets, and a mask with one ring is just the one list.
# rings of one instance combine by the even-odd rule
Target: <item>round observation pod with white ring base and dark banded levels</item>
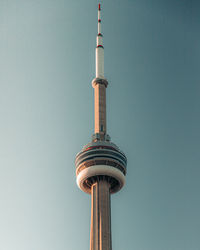
[[110,141],[93,141],[77,154],[76,177],[78,187],[91,193],[91,186],[100,179],[110,184],[110,193],[118,192],[125,184],[126,156]]

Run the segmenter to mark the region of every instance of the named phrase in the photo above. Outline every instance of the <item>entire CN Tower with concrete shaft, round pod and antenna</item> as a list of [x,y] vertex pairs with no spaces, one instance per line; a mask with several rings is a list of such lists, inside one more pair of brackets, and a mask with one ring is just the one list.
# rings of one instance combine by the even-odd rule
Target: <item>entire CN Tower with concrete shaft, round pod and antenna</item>
[[77,154],[76,182],[91,194],[90,250],[112,250],[110,195],[125,184],[126,156],[110,140],[106,130],[106,88],[104,47],[101,32],[101,5],[98,5],[96,77],[94,88],[94,134]]

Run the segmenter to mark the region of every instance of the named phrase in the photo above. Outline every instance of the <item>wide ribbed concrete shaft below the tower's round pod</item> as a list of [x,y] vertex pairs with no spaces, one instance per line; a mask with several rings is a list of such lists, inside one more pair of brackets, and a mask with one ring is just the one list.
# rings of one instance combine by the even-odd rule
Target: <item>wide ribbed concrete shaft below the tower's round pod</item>
[[99,180],[91,188],[90,250],[112,250],[110,184]]

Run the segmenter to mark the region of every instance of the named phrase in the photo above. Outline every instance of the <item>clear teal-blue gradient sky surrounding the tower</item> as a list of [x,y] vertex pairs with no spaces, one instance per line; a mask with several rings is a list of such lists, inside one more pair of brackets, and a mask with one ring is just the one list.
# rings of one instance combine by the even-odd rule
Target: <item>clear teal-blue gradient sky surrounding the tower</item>
[[[0,250],[89,249],[96,0],[0,0]],[[113,250],[200,249],[200,2],[104,0],[107,121],[128,158]]]

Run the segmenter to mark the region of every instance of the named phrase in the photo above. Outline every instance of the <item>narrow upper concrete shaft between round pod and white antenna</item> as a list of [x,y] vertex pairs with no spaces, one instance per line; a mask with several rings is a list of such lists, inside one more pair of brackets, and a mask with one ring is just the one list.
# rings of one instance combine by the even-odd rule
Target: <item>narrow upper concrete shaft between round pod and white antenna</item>
[[96,84],[94,87],[95,133],[106,133],[106,87]]

